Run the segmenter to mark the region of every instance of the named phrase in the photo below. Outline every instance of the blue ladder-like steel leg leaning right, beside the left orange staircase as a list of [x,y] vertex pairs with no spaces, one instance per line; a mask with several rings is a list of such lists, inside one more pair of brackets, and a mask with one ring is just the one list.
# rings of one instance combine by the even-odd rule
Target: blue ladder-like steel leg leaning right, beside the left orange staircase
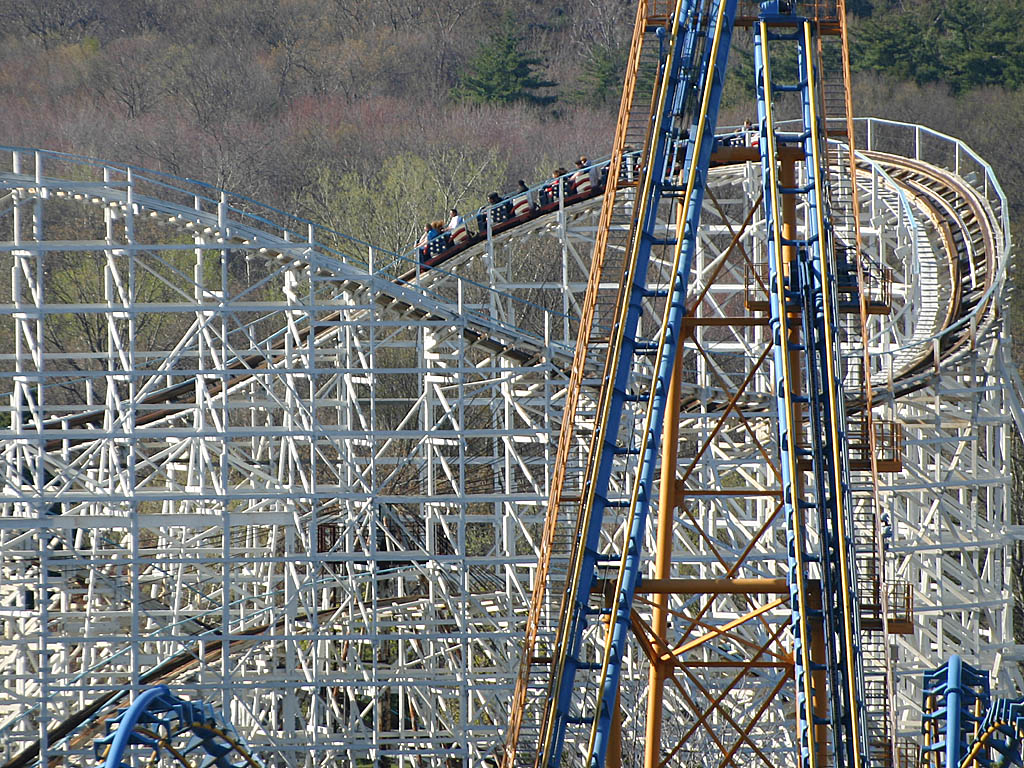
[[[644,164],[644,183],[638,197],[641,212],[637,217],[638,229],[634,234],[634,251],[628,259],[624,281],[626,294],[621,297],[620,321],[609,359],[609,381],[602,393],[604,423],[603,438],[597,446],[599,456],[593,457],[596,471],[591,476],[585,502],[584,526],[577,545],[573,563],[575,579],[567,591],[569,610],[568,630],[565,637],[564,662],[555,670],[557,680],[553,686],[554,716],[547,749],[542,743],[542,762],[548,768],[558,768],[565,746],[569,726],[590,725],[591,731],[586,757],[592,768],[604,765],[611,735],[613,708],[616,698],[623,654],[630,627],[633,594],[639,578],[642,548],[650,509],[653,483],[656,476],[656,457],[659,454],[665,419],[666,395],[682,343],[683,317],[686,313],[686,288],[696,246],[697,225],[703,202],[705,185],[711,154],[715,142],[715,124],[721,101],[722,84],[735,18],[736,0],[715,0],[711,13],[700,12],[700,4],[682,0],[677,6],[673,29],[660,37],[663,48],[663,88],[657,110],[653,116],[653,129],[649,141],[650,154]],[[685,183],[672,180],[671,159],[680,148],[684,152],[681,178]],[[650,295],[648,264],[655,244],[672,245],[659,241],[655,227],[657,212],[667,195],[682,198],[682,221],[675,240],[674,269],[669,287],[669,302],[656,338],[640,339],[637,336],[643,301]],[[609,504],[609,482],[612,469],[624,452],[635,449],[618,444],[622,414],[629,397],[627,388],[640,356],[656,355],[655,376],[649,391],[641,395],[646,402],[643,428],[638,437],[640,466],[627,506],[628,540],[625,550],[614,555],[599,555],[601,529],[605,508]],[[612,354],[614,355],[612,357]],[[613,559],[611,559],[613,558]],[[593,604],[591,590],[601,561],[617,564],[612,606],[607,621],[610,624],[600,662],[584,665],[580,658],[585,630],[591,626],[602,608]],[[595,712],[574,712],[574,697],[580,698],[577,676],[580,670],[599,671],[595,681]]]

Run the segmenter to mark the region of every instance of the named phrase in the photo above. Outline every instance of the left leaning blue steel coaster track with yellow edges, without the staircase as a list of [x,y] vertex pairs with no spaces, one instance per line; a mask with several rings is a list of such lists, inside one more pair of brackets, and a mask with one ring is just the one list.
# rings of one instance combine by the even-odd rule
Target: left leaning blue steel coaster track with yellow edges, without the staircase
[[[580,503],[578,544],[568,567],[562,618],[554,644],[556,658],[538,765],[557,768],[568,760],[601,766],[612,736],[618,678],[653,496],[667,394],[682,345],[686,291],[735,9],[735,0],[707,5],[681,0],[671,14],[669,29],[659,35],[665,44],[652,123],[641,161],[638,213],[607,352],[605,385],[597,409],[598,431],[591,442]],[[678,176],[673,168],[677,147],[684,152]],[[680,211],[676,239],[671,243],[655,234],[656,212],[663,200],[678,205]],[[654,246],[672,247],[668,285],[649,282],[648,264]],[[639,333],[642,302],[652,296],[667,299],[664,316],[656,335],[643,338]],[[640,356],[654,357],[654,378],[631,386],[631,372]],[[620,437],[624,414],[631,411],[640,424],[636,430],[639,444],[623,444]],[[630,456],[638,457],[639,468],[627,496],[613,490],[610,480],[613,463],[623,457],[629,460]],[[627,540],[618,552],[601,553],[605,513],[616,508],[627,511]],[[607,604],[604,596],[592,589],[602,565],[615,569]],[[602,621],[606,624],[603,631]],[[587,650],[585,635],[603,635],[603,642]],[[573,752],[563,757],[566,749]]]

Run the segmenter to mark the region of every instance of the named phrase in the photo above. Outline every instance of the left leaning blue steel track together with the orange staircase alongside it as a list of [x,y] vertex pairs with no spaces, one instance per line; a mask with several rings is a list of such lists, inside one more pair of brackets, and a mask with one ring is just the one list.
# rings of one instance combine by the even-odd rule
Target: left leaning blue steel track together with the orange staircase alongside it
[[[550,644],[542,645],[535,639],[532,652],[528,650],[524,659],[532,669],[543,665],[550,670],[550,683],[541,701],[545,709],[539,746],[529,752],[522,746],[520,719],[506,745],[507,764],[532,760],[542,766],[599,766],[612,730],[666,392],[682,339],[686,287],[715,142],[735,0],[679,0],[671,13],[660,17],[651,10],[656,8],[642,6],[643,18],[638,17],[630,66],[632,85],[628,79],[611,165],[611,173],[624,187],[635,186],[637,204],[628,227],[622,213],[616,217],[614,201],[606,200],[602,212],[587,302],[588,308],[593,302],[594,309],[581,329],[581,346],[586,345],[586,349],[578,352],[566,406],[566,419],[572,426],[563,427],[559,446],[558,471],[564,470],[564,475],[556,478],[549,506],[551,549],[542,556],[541,569],[546,571],[542,588],[552,596],[561,593],[557,634]],[[632,92],[645,48],[656,51],[658,60],[655,97],[647,110],[642,109],[642,97]],[[624,168],[626,144],[636,140],[640,131],[644,141],[639,162]],[[678,176],[677,167],[681,169]],[[667,230],[666,222],[677,216],[680,221],[675,231]],[[611,232],[617,247],[609,243]],[[625,257],[621,268],[616,269],[613,260],[605,261],[609,253]],[[658,258],[652,258],[652,253]],[[672,267],[663,269],[663,263]],[[614,305],[599,304],[601,283],[616,270],[622,279]],[[642,321],[641,305],[652,298],[663,301],[665,313],[659,319]],[[612,308],[611,324],[594,322]],[[591,410],[581,397],[580,389],[586,383],[582,372],[588,368],[588,355],[602,352],[604,376],[596,409]],[[567,430],[573,427],[581,434],[566,439]],[[590,429],[589,450],[580,457],[586,470],[577,475],[583,481],[573,486],[565,478],[582,465],[571,463],[570,447]],[[563,513],[562,508],[569,505],[575,506],[574,515]],[[564,571],[563,561],[555,559],[555,547],[561,542],[553,531],[559,528],[575,531],[571,540],[562,540],[572,545]],[[625,538],[609,531],[624,531]],[[594,591],[599,573],[614,584],[613,590],[603,594]],[[539,583],[541,578],[539,574]],[[535,632],[540,638],[545,606],[539,604],[537,595],[535,592],[527,633]],[[542,655],[542,647],[551,656]],[[530,674],[531,670],[524,672],[520,682]],[[516,713],[514,717],[522,716]]]

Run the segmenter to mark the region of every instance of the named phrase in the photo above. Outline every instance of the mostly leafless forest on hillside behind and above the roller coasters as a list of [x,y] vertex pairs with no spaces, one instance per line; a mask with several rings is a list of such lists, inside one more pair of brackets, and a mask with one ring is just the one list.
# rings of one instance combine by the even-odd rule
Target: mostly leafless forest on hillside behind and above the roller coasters
[[[964,138],[1020,220],[1024,0],[850,0],[856,112]],[[0,0],[0,143],[189,176],[396,249],[611,145],[632,0]],[[722,122],[751,116],[737,35]]]

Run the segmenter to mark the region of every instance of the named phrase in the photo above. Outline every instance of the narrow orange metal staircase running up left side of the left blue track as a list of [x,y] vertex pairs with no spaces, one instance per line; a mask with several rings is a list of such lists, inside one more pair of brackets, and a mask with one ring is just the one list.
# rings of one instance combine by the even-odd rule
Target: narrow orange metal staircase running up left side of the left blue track
[[[593,378],[593,371],[595,368],[600,370],[607,357],[625,258],[634,233],[638,178],[641,168],[647,167],[647,163],[633,153],[642,147],[640,158],[645,159],[648,155],[653,95],[638,88],[637,83],[642,73],[657,72],[664,44],[664,35],[658,35],[657,30],[664,30],[669,12],[668,0],[641,2],[637,7],[598,238],[566,390],[558,456],[505,739],[503,768],[532,766],[538,759],[541,719],[560,622],[558,600],[565,591],[586,477],[587,455],[579,450],[579,444],[590,443],[596,433],[596,393],[600,380]],[[588,372],[590,376],[586,375]]]

